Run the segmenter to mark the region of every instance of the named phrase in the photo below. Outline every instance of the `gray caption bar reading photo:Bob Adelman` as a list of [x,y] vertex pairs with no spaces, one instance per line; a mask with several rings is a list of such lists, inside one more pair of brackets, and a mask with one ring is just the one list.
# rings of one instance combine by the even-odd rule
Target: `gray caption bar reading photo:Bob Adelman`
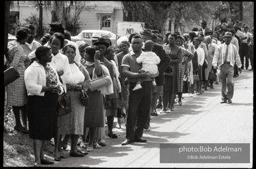
[[249,143],[160,143],[160,163],[249,162]]

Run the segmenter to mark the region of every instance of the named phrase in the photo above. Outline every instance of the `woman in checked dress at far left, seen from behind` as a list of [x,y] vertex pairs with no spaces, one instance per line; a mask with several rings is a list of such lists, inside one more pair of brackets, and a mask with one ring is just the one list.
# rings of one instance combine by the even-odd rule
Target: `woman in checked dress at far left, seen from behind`
[[[15,116],[15,127],[17,131],[29,133],[27,130],[27,93],[25,88],[24,73],[26,54],[21,45],[25,44],[29,38],[29,30],[19,27],[16,30],[17,40],[8,42],[8,61],[11,67],[18,71],[20,77],[13,83],[6,86],[7,88],[7,105],[13,106],[13,114]],[[21,125],[20,119],[23,121]]]

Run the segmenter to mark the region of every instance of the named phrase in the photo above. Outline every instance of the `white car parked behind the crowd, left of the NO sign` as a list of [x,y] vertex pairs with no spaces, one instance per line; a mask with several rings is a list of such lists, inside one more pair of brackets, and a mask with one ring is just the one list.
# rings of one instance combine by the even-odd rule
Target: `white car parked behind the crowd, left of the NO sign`
[[107,30],[82,30],[80,34],[78,34],[77,36],[71,36],[71,40],[73,42],[84,40],[86,44],[92,45],[92,34],[94,34],[95,32],[100,32],[101,36],[109,35],[110,40],[112,42],[112,46],[115,46],[115,43],[117,41],[116,35]]

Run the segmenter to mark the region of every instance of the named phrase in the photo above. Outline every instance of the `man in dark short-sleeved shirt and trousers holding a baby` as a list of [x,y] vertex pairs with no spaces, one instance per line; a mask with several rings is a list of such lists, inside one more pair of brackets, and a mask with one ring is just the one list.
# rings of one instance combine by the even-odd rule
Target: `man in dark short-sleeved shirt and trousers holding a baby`
[[[128,78],[129,81],[129,108],[127,112],[126,120],[126,139],[121,145],[128,145],[131,142],[145,143],[147,140],[143,139],[143,129],[149,118],[149,105],[151,104],[152,96],[152,79],[148,78],[149,73],[137,73],[141,69],[142,65],[137,63],[136,59],[143,52],[141,50],[143,46],[143,40],[141,36],[135,35],[131,38],[131,48],[133,49],[127,53],[122,60],[123,75]],[[141,90],[133,91],[136,86],[137,78],[143,79],[141,82]],[[137,129],[135,129],[135,123],[137,123]]]

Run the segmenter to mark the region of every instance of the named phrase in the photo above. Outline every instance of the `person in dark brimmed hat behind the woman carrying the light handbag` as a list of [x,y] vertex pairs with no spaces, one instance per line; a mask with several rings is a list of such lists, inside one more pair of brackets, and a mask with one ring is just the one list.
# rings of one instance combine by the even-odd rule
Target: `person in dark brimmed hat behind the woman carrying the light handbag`
[[[100,56],[99,56],[99,61],[101,61],[102,63],[104,63],[105,67],[107,67],[107,69],[109,70],[109,74],[110,77],[113,81],[113,64],[108,61],[107,59],[105,59],[104,54],[105,51],[107,50],[107,48],[109,48],[109,43],[107,43],[105,41],[104,38],[99,38],[99,40],[97,40],[97,42],[94,43],[94,46],[97,46],[97,48],[100,51]],[[107,100],[111,100],[113,97],[113,94],[110,95],[105,95],[103,102],[105,105],[105,102]],[[105,117],[105,109],[104,109],[104,117]],[[99,143],[99,145],[101,145],[102,147],[105,147],[105,127],[99,127],[97,129],[97,143]]]

